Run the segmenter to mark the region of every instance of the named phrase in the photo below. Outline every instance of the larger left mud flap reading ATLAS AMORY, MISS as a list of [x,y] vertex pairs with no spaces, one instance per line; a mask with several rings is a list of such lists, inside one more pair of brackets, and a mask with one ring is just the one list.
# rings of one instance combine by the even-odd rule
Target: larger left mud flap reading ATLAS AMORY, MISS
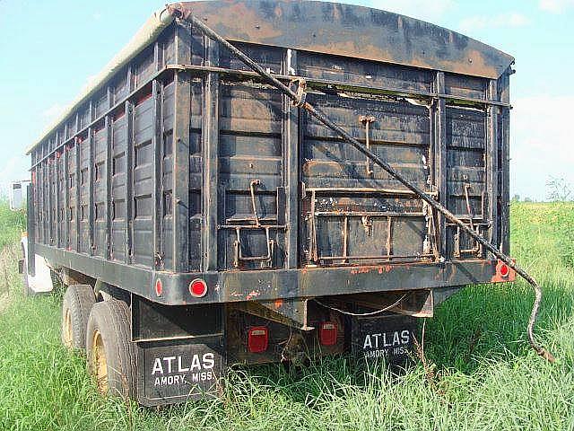
[[137,343],[137,398],[159,406],[218,397],[226,370],[222,336]]

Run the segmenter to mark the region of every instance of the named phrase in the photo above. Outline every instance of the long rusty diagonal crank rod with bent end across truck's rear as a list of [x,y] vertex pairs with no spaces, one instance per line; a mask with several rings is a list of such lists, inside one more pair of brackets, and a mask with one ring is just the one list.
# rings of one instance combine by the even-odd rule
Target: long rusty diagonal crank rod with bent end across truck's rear
[[[179,12],[178,10],[174,10],[176,16],[178,15],[178,12]],[[180,12],[179,14],[181,15]],[[460,228],[461,231],[470,235],[472,238],[474,238],[476,242],[482,244],[483,247],[486,248],[488,251],[491,251],[491,253],[494,256],[496,256],[498,259],[506,263],[509,266],[509,268],[514,269],[520,277],[523,277],[526,280],[526,282],[528,282],[533,287],[535,292],[535,301],[533,303],[532,312],[530,313],[530,319],[527,325],[528,341],[530,343],[530,346],[535,349],[536,353],[539,356],[543,356],[546,360],[554,362],[554,356],[552,356],[552,353],[550,353],[548,350],[546,350],[544,347],[538,344],[534,337],[535,321],[538,316],[540,303],[542,301],[542,290],[538,285],[538,283],[535,281],[534,277],[530,276],[525,269],[520,268],[513,259],[511,259],[502,251],[498,250],[495,245],[491,244],[491,242],[486,241],[480,234],[474,232],[474,230],[472,230],[462,220],[457,218],[457,216],[451,213],[446,207],[440,205],[439,202],[434,200],[430,194],[425,192],[416,184],[413,184],[409,180],[404,178],[404,176],[401,173],[396,172],[387,162],[381,159],[377,154],[374,154],[372,151],[370,151],[370,149],[367,148],[366,145],[361,144],[361,142],[359,142],[357,139],[349,135],[344,130],[344,128],[337,126],[323,112],[317,110],[308,101],[305,101],[306,96],[305,92],[302,93],[293,92],[290,87],[283,84],[276,77],[265,71],[265,69],[262,66],[259,66],[256,61],[248,57],[238,48],[231,45],[230,42],[223,39],[222,36],[220,36],[215,31],[206,26],[204,22],[196,18],[196,16],[189,15],[186,17],[185,20],[182,18],[183,18],[182,16],[178,16],[176,18],[176,22],[178,22],[178,25],[182,25],[184,27],[189,27],[191,25],[196,27],[196,29],[202,31],[204,35],[207,36],[209,39],[218,42],[219,44],[222,45],[222,47],[228,49],[231,54],[233,54],[236,57],[239,57],[239,59],[243,61],[243,63],[245,63],[247,66],[253,69],[258,75],[264,78],[265,81],[267,81],[269,84],[272,84],[275,88],[277,88],[278,90],[283,92],[283,94],[285,94],[288,98],[290,98],[291,101],[293,102],[293,105],[299,106],[301,109],[307,110],[311,116],[313,116],[327,128],[330,128],[331,130],[335,131],[339,136],[343,137],[348,144],[352,145],[360,153],[369,157],[373,163],[378,165],[378,167],[382,168],[389,175],[398,180],[401,184],[404,185],[405,188],[413,191],[414,194],[416,194],[419,198],[425,201],[430,207],[432,207],[440,214],[445,216],[445,218],[447,218],[450,222],[452,222],[453,224],[457,224],[457,226]]]

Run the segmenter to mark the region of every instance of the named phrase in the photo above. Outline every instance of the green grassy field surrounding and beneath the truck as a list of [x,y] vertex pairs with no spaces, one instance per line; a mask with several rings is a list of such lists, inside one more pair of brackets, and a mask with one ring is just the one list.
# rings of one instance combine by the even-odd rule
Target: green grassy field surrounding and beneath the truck
[[59,341],[61,293],[24,298],[22,216],[0,207],[2,430],[574,429],[574,204],[512,204],[512,254],[544,288],[538,339],[524,282],[469,286],[426,321],[426,364],[396,376],[344,358],[303,369],[237,367],[222,400],[166,409],[102,399]]

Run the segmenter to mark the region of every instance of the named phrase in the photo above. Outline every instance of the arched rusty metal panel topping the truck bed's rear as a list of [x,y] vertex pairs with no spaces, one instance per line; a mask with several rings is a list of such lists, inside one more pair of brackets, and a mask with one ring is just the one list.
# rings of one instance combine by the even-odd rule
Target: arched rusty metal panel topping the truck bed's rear
[[172,4],[225,39],[497,79],[514,58],[428,22],[349,4],[235,0]]

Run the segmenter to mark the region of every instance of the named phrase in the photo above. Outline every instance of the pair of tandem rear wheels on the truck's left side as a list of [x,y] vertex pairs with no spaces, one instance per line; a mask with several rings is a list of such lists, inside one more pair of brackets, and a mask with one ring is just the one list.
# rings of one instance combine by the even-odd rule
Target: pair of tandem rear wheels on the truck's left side
[[102,394],[135,398],[135,344],[125,302],[97,303],[90,285],[70,285],[62,306],[62,342],[85,352],[88,370]]

